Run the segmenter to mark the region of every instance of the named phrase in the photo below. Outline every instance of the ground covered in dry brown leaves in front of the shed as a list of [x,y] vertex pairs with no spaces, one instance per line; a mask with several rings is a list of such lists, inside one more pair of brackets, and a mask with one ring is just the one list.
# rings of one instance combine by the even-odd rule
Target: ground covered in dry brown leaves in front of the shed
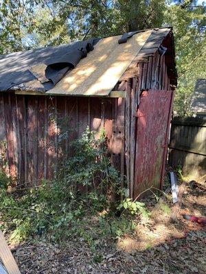
[[182,216],[206,216],[205,186],[186,184],[174,222],[170,221],[170,194],[159,201],[152,195],[145,202],[150,218],[141,220],[132,236],[125,235],[117,242],[100,242],[100,262],[93,261],[93,252],[82,238],[74,238],[64,246],[27,242],[12,247],[21,273],[206,273],[205,227]]

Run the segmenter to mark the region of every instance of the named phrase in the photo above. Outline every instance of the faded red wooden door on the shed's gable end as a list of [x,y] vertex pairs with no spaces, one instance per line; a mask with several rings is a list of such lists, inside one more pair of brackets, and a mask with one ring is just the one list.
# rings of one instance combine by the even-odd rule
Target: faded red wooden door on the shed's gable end
[[161,188],[172,101],[171,90],[148,90],[141,93],[137,111],[134,199],[151,186]]

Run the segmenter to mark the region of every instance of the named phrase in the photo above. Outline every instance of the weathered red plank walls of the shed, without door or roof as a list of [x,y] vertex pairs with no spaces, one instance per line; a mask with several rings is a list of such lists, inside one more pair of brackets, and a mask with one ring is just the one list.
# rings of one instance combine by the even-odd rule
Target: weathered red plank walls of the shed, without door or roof
[[[52,179],[60,159],[71,155],[71,141],[80,137],[87,126],[97,131],[104,127],[111,160],[133,188],[139,96],[143,89],[170,90],[165,58],[158,51],[135,58],[135,69],[132,73],[126,71],[114,88],[125,90],[126,98],[1,92],[0,160],[8,162],[10,175],[16,177],[18,184],[30,186],[40,184],[43,178]],[[60,141],[62,123],[68,138]]]

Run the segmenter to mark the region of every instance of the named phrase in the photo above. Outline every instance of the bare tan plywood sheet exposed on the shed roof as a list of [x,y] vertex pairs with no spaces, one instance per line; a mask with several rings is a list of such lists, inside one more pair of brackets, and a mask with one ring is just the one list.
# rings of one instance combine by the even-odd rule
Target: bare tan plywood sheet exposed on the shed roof
[[80,60],[49,95],[108,96],[152,33],[140,32],[118,45],[121,36],[100,40],[87,58]]

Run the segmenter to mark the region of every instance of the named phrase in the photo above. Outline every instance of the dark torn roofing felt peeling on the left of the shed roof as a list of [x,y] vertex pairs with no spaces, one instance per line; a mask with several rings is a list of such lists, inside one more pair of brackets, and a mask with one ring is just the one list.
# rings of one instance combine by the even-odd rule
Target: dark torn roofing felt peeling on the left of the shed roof
[[0,90],[23,90],[24,86],[27,90],[49,90],[81,58],[87,57],[98,40],[0,55]]

